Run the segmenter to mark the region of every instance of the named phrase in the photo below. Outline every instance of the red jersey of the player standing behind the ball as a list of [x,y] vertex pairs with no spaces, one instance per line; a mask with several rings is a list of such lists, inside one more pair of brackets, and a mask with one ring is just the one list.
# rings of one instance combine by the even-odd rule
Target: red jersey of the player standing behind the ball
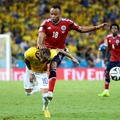
[[120,62],[120,34],[113,37],[112,34],[107,36],[108,46],[110,48],[110,61]]

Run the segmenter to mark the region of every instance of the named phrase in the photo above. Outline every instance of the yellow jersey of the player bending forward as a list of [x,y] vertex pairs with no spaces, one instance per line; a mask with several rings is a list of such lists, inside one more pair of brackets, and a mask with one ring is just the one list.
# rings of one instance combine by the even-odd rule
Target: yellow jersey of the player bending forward
[[30,47],[25,53],[24,58],[30,62],[31,70],[33,72],[47,72],[47,62],[41,63],[36,57],[36,53],[40,51],[36,47]]

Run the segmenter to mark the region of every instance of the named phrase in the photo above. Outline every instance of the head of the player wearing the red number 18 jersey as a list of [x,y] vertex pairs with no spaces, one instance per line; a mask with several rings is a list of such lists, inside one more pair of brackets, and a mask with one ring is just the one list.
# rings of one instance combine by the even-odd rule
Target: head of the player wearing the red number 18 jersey
[[59,5],[53,5],[50,9],[50,18],[53,23],[58,23],[61,17],[61,7]]

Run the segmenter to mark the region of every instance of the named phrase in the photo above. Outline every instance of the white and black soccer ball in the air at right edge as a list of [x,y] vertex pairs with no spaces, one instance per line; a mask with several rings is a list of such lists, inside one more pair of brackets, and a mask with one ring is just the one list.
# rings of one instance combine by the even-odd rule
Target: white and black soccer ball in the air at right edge
[[110,72],[110,79],[114,81],[119,81],[120,80],[120,67],[113,67]]

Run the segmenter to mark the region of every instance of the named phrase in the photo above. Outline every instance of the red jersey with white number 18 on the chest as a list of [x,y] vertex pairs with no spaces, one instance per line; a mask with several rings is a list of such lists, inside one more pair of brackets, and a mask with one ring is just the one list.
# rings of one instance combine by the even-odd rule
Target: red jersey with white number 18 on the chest
[[61,18],[58,24],[54,24],[51,19],[42,22],[39,32],[46,34],[45,45],[48,48],[65,48],[65,40],[70,30],[78,30],[80,26],[69,19]]

